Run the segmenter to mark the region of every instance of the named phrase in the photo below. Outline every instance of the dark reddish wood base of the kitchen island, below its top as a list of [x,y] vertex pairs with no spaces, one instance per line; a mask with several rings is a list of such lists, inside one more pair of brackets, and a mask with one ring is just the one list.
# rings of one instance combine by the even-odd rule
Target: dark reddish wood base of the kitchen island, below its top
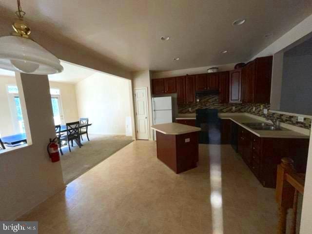
[[176,174],[197,167],[198,132],[166,135],[156,132],[157,158]]

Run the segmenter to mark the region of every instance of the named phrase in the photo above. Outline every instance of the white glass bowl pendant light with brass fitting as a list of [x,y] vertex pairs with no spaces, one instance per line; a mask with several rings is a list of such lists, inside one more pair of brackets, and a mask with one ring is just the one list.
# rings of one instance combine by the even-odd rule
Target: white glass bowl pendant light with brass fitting
[[0,68],[13,72],[39,75],[55,74],[63,71],[57,57],[30,38],[31,30],[23,21],[20,0],[15,14],[11,36],[0,37]]

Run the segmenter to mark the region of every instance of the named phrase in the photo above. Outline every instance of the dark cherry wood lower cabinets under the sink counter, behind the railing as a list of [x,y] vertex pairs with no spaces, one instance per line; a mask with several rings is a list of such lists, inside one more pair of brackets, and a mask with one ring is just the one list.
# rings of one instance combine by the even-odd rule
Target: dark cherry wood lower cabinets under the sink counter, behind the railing
[[257,137],[238,127],[238,153],[264,187],[275,188],[277,165],[290,157],[295,170],[305,173],[309,139]]

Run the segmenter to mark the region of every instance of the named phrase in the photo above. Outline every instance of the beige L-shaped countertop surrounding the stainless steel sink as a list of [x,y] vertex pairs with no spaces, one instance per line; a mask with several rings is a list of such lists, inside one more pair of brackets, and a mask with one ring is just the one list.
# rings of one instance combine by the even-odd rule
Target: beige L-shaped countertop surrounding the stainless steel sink
[[[292,131],[291,129],[284,130],[284,131],[263,131],[263,130],[254,130],[251,128],[248,128],[245,126],[243,123],[256,123],[256,122],[268,122],[268,121],[263,121],[260,120],[259,118],[261,117],[251,117],[251,115],[248,114],[219,114],[219,117],[221,119],[231,119],[241,127],[245,128],[246,130],[250,131],[254,135],[258,137],[272,137],[272,138],[307,138],[309,139],[310,136],[299,133],[297,131]],[[288,124],[282,124],[281,127],[287,128]],[[288,125],[289,127],[289,125]],[[295,127],[296,128],[296,127]]]

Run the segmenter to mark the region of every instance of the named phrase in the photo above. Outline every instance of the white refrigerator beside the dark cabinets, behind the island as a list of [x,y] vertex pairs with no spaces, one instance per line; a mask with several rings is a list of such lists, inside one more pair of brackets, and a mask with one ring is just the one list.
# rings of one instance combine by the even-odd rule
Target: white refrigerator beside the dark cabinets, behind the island
[[[172,97],[153,98],[153,124],[172,123]],[[154,140],[156,140],[156,131]]]

